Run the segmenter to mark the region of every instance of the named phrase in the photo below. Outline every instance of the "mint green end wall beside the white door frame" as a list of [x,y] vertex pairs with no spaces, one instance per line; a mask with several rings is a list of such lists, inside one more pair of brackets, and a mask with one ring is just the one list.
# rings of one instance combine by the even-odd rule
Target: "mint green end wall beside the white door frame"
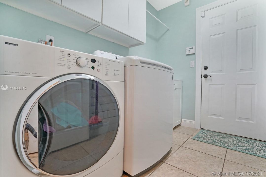
[[185,7],[183,0],[157,13],[157,18],[171,30],[158,24],[156,59],[174,68],[174,79],[183,80],[183,119],[195,120],[196,70],[190,68],[190,61],[196,60],[196,56],[186,56],[185,48],[196,45],[196,8],[214,1],[190,0],[190,5]]

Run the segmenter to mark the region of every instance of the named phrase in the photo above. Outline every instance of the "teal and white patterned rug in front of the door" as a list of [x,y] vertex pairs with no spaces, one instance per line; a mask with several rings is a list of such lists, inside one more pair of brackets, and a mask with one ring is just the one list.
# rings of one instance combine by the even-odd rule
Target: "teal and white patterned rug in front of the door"
[[201,130],[193,140],[221,146],[223,148],[236,150],[254,156],[266,158],[266,142],[232,136],[223,133]]

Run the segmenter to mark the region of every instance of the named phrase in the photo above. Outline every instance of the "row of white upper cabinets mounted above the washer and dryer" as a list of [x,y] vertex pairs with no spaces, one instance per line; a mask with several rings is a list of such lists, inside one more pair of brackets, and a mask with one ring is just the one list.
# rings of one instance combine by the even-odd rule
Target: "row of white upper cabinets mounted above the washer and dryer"
[[146,42],[146,0],[0,0],[128,48]]

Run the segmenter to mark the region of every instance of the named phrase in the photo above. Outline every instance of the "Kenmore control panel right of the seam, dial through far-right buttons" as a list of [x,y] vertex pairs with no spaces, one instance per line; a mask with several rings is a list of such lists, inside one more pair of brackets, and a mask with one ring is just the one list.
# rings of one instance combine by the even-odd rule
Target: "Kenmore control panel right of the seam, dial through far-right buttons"
[[124,62],[55,47],[55,76],[84,73],[102,80],[124,81]]

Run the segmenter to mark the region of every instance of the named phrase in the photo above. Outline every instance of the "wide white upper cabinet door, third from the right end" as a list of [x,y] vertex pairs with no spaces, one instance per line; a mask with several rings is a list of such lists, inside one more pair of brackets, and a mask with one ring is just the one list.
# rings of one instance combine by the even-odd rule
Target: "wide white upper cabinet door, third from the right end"
[[67,7],[98,22],[102,21],[101,0],[62,0],[62,6]]

